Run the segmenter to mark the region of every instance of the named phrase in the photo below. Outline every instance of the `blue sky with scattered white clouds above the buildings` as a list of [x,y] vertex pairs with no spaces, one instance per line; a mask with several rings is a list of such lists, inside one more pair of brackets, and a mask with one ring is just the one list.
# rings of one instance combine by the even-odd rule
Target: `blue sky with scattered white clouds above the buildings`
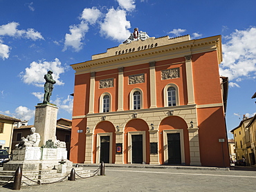
[[57,81],[51,101],[58,118],[71,119],[70,65],[118,46],[138,27],[149,37],[222,35],[229,133],[242,115],[255,114],[255,18],[255,0],[0,0],[0,113],[33,124],[51,69]]

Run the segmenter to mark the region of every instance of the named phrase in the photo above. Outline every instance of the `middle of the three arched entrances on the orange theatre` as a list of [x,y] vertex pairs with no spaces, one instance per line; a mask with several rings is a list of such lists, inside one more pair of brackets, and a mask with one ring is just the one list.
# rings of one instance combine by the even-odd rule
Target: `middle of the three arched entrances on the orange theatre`
[[124,131],[125,164],[149,164],[149,127],[143,119],[132,119]]

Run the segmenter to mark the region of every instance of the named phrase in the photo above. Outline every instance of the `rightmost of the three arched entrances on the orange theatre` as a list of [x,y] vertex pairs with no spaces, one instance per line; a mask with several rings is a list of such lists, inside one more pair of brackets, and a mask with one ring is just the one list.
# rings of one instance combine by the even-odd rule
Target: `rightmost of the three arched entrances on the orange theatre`
[[188,125],[178,116],[166,117],[158,128],[160,164],[190,164]]

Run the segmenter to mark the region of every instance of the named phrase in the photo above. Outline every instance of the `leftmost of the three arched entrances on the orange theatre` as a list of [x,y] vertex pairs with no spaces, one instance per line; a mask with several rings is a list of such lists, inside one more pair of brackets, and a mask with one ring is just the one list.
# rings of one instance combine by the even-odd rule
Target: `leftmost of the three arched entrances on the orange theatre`
[[115,163],[116,129],[111,122],[100,122],[93,131],[93,163]]

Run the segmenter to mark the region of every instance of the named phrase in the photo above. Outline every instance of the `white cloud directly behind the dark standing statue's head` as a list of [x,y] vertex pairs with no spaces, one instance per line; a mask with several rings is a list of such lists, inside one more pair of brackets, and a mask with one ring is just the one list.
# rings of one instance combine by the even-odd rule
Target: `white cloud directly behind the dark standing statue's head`
[[57,58],[54,61],[33,61],[30,67],[25,69],[25,73],[21,72],[19,76],[25,84],[43,87],[45,83],[44,75],[46,75],[48,70],[53,70],[53,79],[56,81],[55,85],[64,84],[60,81],[60,74],[64,73],[65,68]]

